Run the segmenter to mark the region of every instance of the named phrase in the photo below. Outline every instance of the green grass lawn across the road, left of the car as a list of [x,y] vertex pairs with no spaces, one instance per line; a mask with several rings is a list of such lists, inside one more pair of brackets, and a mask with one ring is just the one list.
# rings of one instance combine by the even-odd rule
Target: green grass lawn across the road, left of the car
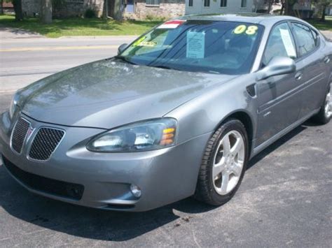
[[102,20],[98,18],[68,18],[53,20],[52,24],[41,24],[36,18],[15,22],[13,15],[0,15],[0,26],[15,27],[34,31],[49,38],[60,36],[120,36],[139,35],[151,29],[160,21],[125,21]]

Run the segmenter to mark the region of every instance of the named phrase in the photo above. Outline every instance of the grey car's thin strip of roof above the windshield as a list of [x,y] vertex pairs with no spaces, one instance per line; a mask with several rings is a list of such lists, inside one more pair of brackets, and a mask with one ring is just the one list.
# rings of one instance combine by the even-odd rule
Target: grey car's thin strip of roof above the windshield
[[256,24],[275,23],[281,20],[299,20],[296,17],[285,15],[267,15],[256,13],[241,14],[209,14],[209,15],[185,15],[185,20],[220,20],[229,22],[251,22]]

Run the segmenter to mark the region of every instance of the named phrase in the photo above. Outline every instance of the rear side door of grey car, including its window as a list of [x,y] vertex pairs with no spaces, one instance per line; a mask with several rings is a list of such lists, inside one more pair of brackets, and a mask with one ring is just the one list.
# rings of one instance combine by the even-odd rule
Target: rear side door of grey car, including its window
[[298,60],[303,63],[300,80],[301,110],[299,118],[310,115],[321,107],[322,97],[326,93],[328,70],[325,57],[319,50],[321,41],[316,31],[300,22],[291,22]]

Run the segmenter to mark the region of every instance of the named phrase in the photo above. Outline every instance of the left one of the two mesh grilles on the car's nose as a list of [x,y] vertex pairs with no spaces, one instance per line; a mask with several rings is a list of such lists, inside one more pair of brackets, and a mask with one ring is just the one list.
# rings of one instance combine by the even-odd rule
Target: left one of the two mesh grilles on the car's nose
[[29,130],[29,127],[30,123],[23,118],[18,119],[18,122],[16,122],[11,137],[11,147],[15,152],[22,152],[23,143],[27,137],[27,131]]

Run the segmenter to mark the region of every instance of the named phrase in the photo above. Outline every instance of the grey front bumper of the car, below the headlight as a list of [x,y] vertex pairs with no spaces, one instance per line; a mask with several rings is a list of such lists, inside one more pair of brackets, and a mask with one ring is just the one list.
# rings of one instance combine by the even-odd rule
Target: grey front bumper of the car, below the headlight
[[[60,128],[66,135],[48,161],[32,161],[27,151],[33,137],[27,140],[21,154],[13,152],[10,138],[14,124],[8,112],[0,115],[0,154],[15,180],[36,194],[109,210],[151,210],[193,195],[210,136],[207,133],[186,143],[150,152],[95,153],[88,151],[85,144],[104,130],[45,124],[24,117],[36,129]],[[141,197],[133,196],[131,184],[141,188]],[[80,187],[75,188],[77,185]],[[77,192],[69,191],[82,194],[77,196]]]

